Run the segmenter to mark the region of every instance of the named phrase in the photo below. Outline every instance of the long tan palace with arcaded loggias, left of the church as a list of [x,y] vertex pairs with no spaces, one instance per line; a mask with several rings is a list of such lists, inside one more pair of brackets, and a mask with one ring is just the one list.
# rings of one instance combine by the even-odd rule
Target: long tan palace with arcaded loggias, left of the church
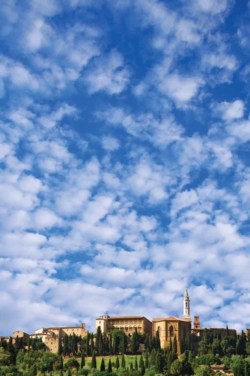
[[95,328],[100,326],[102,333],[108,333],[116,329],[124,331],[131,337],[137,328],[139,333],[151,333],[152,323],[144,316],[100,316],[95,320]]

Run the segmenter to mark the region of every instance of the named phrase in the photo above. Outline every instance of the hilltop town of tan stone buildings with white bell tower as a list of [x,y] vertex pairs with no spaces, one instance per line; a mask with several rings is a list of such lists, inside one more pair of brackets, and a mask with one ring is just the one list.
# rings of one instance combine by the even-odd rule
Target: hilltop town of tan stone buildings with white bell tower
[[[232,328],[204,328],[200,326],[199,316],[194,316],[193,326],[191,327],[190,318],[190,299],[185,290],[183,298],[183,317],[159,317],[152,318],[152,321],[144,316],[100,316],[95,320],[96,332],[99,328],[103,335],[112,333],[115,330],[124,332],[127,336],[127,342],[131,342],[132,334],[144,333],[151,338],[155,338],[156,333],[159,338],[161,348],[169,348],[170,342],[173,338],[176,338],[177,354],[181,353],[181,340],[188,346],[189,342],[192,342],[193,348],[197,348],[200,341],[203,340],[204,331],[206,335],[210,337],[219,336],[221,340],[224,340],[226,336],[235,337],[240,333],[237,333]],[[40,339],[44,343],[44,348],[47,351],[57,353],[61,340],[65,336],[77,336],[86,337],[88,331],[85,330],[85,323],[81,323],[80,326],[60,326],[60,327],[41,327],[34,330],[33,334],[27,334],[21,330],[13,332],[11,338],[12,343],[16,340],[22,341],[22,343],[28,346],[32,339]],[[250,328],[245,328],[245,335],[250,335]],[[90,337],[89,337],[90,338]],[[0,337],[0,341],[9,341],[9,337]],[[143,350],[143,343],[141,344],[141,350]]]

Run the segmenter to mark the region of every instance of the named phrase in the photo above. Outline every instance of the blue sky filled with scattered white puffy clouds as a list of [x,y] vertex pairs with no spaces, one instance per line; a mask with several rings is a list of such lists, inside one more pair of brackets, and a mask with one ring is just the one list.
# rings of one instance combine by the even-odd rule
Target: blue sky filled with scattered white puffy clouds
[[250,325],[250,3],[3,0],[3,335]]

